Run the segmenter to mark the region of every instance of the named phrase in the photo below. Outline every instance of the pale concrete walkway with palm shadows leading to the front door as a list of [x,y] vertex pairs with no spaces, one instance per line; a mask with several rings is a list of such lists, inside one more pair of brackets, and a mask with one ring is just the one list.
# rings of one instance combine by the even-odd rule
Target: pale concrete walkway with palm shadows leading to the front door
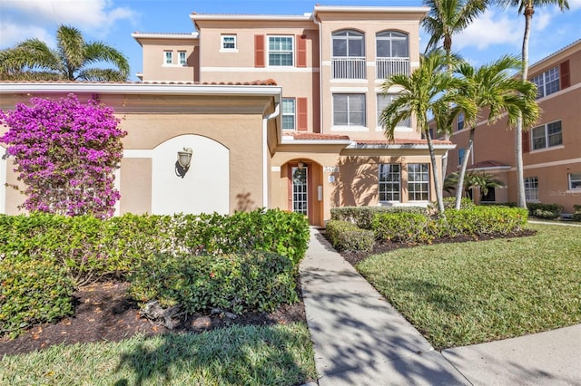
[[300,280],[320,386],[581,384],[581,325],[437,352],[314,228]]

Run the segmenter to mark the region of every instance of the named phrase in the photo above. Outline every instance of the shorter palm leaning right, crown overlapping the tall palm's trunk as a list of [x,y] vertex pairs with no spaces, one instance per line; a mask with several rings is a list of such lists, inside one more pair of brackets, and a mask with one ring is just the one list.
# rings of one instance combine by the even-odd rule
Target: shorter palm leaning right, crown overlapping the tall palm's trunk
[[[505,55],[496,62],[483,65],[478,70],[463,62],[457,67],[456,73],[463,85],[459,92],[473,101],[478,110],[487,108],[487,123],[497,121],[503,112],[507,112],[507,125],[514,128],[520,118],[528,128],[538,119],[537,86],[528,81],[513,76],[510,71],[518,68],[520,61],[514,56]],[[456,106],[450,111],[450,121],[462,111]],[[478,123],[478,114],[465,114],[469,128],[468,147],[458,176],[456,192],[456,208],[460,208],[464,176],[468,167],[470,151],[474,144],[474,132]]]

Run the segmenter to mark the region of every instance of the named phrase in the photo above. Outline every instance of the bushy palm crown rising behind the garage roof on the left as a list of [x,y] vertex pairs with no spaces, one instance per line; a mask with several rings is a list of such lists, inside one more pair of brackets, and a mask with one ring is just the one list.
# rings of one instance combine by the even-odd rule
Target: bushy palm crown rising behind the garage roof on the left
[[[85,42],[76,28],[60,25],[56,32],[56,50],[39,39],[28,39],[14,48],[0,51],[2,80],[69,80],[123,82],[129,63],[113,47],[102,42]],[[113,68],[89,67],[111,63]]]

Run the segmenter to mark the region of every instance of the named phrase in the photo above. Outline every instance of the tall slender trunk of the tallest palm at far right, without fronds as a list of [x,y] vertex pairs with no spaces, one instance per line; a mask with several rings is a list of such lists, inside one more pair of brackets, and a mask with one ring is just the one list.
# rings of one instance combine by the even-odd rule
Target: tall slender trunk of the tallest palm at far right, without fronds
[[[525,10],[525,35],[523,37],[523,64],[522,64],[522,79],[527,80],[528,77],[528,36],[530,35],[530,24],[535,13],[532,5],[527,6]],[[517,163],[517,207],[527,207],[527,199],[525,197],[525,174],[523,166],[523,120],[519,114],[517,120],[517,129],[515,130],[515,156]]]

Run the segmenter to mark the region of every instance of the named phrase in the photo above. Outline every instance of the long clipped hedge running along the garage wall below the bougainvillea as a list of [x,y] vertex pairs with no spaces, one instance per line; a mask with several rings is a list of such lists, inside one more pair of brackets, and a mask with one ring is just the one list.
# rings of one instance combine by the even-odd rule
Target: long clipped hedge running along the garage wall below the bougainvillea
[[0,215],[0,258],[52,256],[75,285],[104,275],[124,277],[135,262],[155,254],[222,255],[277,252],[298,265],[309,243],[308,220],[278,209],[232,216],[124,215],[109,220],[48,214]]

